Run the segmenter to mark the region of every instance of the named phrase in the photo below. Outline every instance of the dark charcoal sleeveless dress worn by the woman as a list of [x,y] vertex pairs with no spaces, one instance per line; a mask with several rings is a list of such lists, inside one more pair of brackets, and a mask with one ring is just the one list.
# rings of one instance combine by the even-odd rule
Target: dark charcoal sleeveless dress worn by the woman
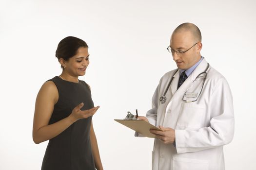
[[[51,80],[58,88],[59,101],[54,106],[49,124],[68,117],[74,107],[83,102],[81,110],[94,107],[89,86],[68,82],[58,76]],[[90,142],[92,117],[79,119],[58,136],[49,140],[41,170],[95,170]]]

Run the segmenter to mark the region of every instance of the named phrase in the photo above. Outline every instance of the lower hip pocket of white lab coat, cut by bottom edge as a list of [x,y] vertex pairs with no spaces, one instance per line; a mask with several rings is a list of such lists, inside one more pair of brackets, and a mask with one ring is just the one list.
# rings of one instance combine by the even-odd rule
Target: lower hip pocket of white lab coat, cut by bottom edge
[[208,161],[174,157],[173,170],[208,170]]

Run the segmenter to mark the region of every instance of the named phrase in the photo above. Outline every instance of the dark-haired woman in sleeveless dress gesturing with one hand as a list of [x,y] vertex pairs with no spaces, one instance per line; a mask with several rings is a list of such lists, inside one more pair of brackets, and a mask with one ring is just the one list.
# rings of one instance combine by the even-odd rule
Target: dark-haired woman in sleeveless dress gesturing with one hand
[[59,42],[56,57],[62,73],[39,90],[33,140],[49,140],[41,170],[103,170],[92,116],[90,86],[78,79],[89,65],[87,44],[68,36]]

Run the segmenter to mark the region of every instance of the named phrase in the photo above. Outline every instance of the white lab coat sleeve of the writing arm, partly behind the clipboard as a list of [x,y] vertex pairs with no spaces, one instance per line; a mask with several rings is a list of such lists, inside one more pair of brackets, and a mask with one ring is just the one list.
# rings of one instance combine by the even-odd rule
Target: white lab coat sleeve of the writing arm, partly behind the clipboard
[[[150,109],[147,114],[146,118],[148,119],[150,124],[156,126],[157,124],[157,111],[158,111],[158,87],[152,97],[152,109]],[[144,137],[143,135],[135,132],[135,136]]]

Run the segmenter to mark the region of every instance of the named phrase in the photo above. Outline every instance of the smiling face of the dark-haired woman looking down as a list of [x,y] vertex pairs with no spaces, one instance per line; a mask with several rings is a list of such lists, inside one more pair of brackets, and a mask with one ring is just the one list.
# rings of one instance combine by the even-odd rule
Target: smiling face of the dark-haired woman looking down
[[[63,61],[64,69],[71,76],[83,76],[86,68],[89,65],[89,52],[88,48],[80,47],[77,54],[69,58],[68,61]],[[63,65],[62,65],[63,66]]]

